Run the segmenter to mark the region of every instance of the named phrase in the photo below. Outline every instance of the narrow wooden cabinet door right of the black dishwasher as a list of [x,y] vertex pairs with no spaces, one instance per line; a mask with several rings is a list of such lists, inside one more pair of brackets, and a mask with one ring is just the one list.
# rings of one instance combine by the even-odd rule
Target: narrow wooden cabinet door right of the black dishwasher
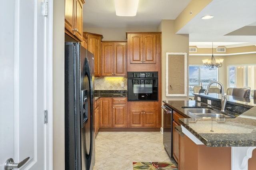
[[180,139],[179,139],[179,133],[177,132],[177,130],[174,129],[175,126],[179,126],[178,123],[176,123],[175,121],[173,121],[172,124],[172,147],[173,147],[173,158],[176,160],[177,163],[179,163],[179,156],[180,156]]

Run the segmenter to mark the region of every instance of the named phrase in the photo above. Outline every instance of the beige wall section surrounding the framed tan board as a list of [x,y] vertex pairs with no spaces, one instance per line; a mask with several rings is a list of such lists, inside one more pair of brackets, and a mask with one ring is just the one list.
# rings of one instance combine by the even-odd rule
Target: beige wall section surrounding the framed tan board
[[174,20],[162,20],[158,27],[158,31],[162,32],[162,100],[186,100],[188,99],[188,96],[166,97],[166,52],[186,52],[188,54],[188,34],[175,34]]

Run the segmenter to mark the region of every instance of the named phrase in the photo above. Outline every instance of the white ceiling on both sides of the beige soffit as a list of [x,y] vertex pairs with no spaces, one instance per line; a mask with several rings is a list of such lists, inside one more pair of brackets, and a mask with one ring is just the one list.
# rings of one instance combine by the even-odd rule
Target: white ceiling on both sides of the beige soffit
[[[134,17],[116,16],[114,0],[85,1],[86,27],[156,28],[161,20],[175,20],[191,0],[139,0]],[[208,14],[214,18],[201,19]],[[198,47],[256,45],[256,0],[213,0],[177,34],[189,34],[190,45]]]

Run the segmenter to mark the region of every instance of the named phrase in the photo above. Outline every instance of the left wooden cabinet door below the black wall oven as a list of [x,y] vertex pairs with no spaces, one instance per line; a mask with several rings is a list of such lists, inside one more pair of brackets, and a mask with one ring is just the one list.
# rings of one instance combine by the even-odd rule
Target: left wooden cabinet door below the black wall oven
[[142,110],[130,111],[130,127],[143,127],[143,112]]

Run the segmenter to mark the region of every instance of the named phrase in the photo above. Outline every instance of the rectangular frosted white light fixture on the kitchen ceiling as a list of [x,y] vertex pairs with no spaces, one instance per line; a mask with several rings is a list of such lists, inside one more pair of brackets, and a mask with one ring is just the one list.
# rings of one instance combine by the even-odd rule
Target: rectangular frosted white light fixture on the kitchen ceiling
[[139,0],[115,0],[117,16],[136,16]]

